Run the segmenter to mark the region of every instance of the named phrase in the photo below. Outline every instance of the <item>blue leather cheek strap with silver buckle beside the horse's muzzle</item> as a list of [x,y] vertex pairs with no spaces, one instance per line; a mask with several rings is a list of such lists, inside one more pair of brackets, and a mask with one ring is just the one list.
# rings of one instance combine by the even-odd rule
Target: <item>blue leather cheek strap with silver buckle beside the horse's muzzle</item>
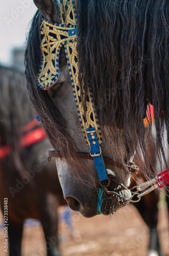
[[90,142],[90,154],[94,159],[95,166],[97,169],[97,174],[100,181],[108,180],[106,169],[104,165],[103,156],[101,153],[101,147],[99,146],[99,142],[97,139],[97,132],[95,131],[95,128],[89,128],[87,129],[87,134]]

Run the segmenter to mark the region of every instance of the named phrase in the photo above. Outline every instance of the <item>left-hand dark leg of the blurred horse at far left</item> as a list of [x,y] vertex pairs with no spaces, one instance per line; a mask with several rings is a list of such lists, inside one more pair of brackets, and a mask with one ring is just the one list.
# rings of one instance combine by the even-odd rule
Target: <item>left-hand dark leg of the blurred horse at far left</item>
[[21,256],[23,223],[13,223],[9,220],[9,256]]

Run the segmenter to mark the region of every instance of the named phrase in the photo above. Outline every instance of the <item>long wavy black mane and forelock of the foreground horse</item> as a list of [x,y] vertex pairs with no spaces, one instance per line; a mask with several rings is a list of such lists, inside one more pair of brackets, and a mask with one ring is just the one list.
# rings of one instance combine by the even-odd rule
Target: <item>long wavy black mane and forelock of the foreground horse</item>
[[[126,151],[130,156],[136,153],[139,160],[143,156],[148,163],[143,119],[151,103],[156,150],[159,159],[164,157],[164,127],[169,143],[169,2],[78,0],[77,6],[79,84],[89,83],[102,130],[109,125],[119,151],[117,131],[124,129]],[[27,39],[27,88],[53,147],[60,156],[71,157],[74,143],[65,121],[36,85],[41,62],[40,20],[37,12]]]

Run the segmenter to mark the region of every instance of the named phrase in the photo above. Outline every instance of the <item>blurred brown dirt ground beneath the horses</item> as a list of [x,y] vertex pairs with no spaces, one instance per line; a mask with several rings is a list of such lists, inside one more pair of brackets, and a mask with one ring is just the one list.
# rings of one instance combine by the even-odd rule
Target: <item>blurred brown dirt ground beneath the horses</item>
[[[63,216],[64,207],[60,207]],[[149,242],[148,227],[137,210],[128,205],[111,218],[103,215],[91,219],[72,212],[72,229],[60,221],[59,237],[62,256],[145,256]],[[2,224],[2,215],[0,223]],[[22,256],[46,256],[40,223],[24,225]],[[159,236],[164,256],[169,256],[169,223],[166,205],[159,204]],[[0,228],[0,255],[4,252],[4,230]]]

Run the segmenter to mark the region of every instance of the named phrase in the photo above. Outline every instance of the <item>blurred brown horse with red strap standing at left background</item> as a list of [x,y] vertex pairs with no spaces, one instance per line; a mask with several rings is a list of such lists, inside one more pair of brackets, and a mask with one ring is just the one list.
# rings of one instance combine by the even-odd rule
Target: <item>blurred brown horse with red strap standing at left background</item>
[[58,256],[58,207],[66,201],[55,163],[47,161],[50,145],[34,119],[24,74],[2,66],[0,116],[0,199],[2,212],[8,199],[9,255],[21,255],[23,222],[34,218],[42,223],[47,255]]

